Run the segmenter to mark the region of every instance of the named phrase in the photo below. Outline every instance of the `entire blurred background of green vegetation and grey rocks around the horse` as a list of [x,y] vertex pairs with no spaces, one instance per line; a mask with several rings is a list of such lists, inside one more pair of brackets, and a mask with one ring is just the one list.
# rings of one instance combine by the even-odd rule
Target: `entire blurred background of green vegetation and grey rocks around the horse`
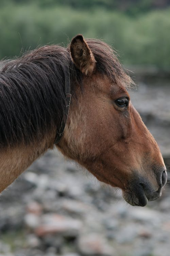
[[[131,99],[170,166],[170,0],[1,0],[0,59],[82,33],[104,40],[136,83]],[[168,173],[169,176],[169,173]],[[168,177],[169,180],[169,177]],[[169,256],[170,187],[147,207],[57,150],[0,197],[0,256]]]

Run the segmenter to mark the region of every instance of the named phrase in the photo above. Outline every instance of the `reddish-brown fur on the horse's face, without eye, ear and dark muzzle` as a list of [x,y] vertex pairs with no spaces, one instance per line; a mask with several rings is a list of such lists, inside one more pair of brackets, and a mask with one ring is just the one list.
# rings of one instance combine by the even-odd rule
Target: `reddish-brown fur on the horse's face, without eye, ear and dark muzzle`
[[[164,166],[155,140],[132,104],[126,113],[117,111],[112,104],[113,98],[129,96],[126,89],[112,85],[107,77],[99,74],[84,78],[83,82],[83,94],[78,89],[78,102],[71,102],[60,143],[63,154],[85,166],[100,181],[122,189],[125,189],[134,170],[140,174],[148,169],[146,152],[150,152],[151,156],[150,169],[155,158],[158,166]],[[114,95],[113,86],[117,87]],[[147,175],[149,177],[150,172]],[[158,189],[152,175],[150,179]]]

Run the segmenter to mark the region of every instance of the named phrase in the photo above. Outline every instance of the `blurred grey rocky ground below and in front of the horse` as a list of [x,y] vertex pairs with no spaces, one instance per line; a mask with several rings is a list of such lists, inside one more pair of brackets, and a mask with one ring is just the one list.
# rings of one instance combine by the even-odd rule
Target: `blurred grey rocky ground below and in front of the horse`
[[[170,165],[169,88],[146,86],[132,101]],[[56,150],[33,163],[0,197],[0,256],[169,256],[170,187],[131,207]]]

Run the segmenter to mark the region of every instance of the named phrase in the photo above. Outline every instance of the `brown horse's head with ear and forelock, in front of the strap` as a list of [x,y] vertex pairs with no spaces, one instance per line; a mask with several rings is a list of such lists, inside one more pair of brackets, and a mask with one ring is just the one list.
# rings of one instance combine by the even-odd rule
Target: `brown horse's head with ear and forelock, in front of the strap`
[[78,35],[70,53],[82,85],[75,86],[58,147],[99,181],[121,188],[128,203],[145,206],[161,195],[167,174],[159,147],[130,100],[127,87],[133,82],[101,41]]

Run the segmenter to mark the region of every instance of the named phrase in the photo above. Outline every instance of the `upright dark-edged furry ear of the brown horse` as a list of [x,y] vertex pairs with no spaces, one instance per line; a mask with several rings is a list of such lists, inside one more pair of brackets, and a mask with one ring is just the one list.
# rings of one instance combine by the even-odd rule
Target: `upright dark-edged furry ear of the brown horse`
[[81,34],[72,39],[70,44],[70,53],[75,66],[83,74],[92,74],[96,66],[96,60]]

